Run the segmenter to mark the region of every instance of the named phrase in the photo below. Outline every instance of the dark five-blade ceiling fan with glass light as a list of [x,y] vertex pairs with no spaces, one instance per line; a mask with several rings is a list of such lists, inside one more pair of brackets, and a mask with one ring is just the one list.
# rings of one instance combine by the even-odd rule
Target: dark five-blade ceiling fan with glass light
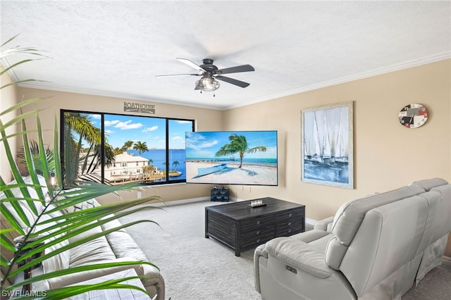
[[223,74],[250,72],[255,70],[254,67],[252,67],[252,65],[237,65],[236,67],[224,68],[219,70],[218,67],[216,67],[216,65],[213,64],[213,59],[211,58],[203,59],[202,65],[196,65],[195,63],[186,58],[176,58],[176,59],[196,69],[197,74],[156,75],[156,77],[171,77],[185,75],[202,76],[200,80],[197,80],[196,85],[194,87],[194,89],[200,89],[201,93],[202,91],[204,92],[216,91],[216,89],[219,88],[219,82],[217,82],[216,80],[228,82],[238,87],[243,88],[248,87],[249,83],[223,76]]

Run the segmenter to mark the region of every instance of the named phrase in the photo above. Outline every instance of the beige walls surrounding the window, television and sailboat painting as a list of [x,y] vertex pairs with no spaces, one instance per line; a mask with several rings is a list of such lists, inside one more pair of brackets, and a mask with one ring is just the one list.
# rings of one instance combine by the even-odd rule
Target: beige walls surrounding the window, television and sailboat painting
[[[320,220],[333,215],[345,201],[414,180],[443,177],[451,182],[450,73],[451,60],[440,61],[228,111],[154,104],[156,115],[192,118],[197,130],[278,130],[278,187],[232,185],[231,196],[294,201],[306,205],[307,218]],[[40,108],[47,108],[42,112],[47,129],[53,128],[54,114],[60,108],[123,113],[123,99],[25,88],[17,96],[50,97],[39,103]],[[354,189],[301,182],[301,109],[346,101],[354,101]],[[402,127],[397,119],[400,109],[412,103],[424,104],[429,111],[428,122],[414,130]],[[1,167],[4,170],[4,161]],[[148,189],[145,194],[172,201],[209,196],[210,188],[170,185]],[[451,243],[445,254],[451,256]]]

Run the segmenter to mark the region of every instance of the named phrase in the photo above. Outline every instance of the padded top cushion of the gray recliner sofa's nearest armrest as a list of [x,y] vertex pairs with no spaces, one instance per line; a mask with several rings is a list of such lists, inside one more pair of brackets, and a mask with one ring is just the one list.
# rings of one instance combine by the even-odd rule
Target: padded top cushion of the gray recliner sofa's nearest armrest
[[290,237],[277,237],[266,243],[265,251],[294,268],[319,278],[327,278],[334,270],[326,265],[324,254],[309,244]]

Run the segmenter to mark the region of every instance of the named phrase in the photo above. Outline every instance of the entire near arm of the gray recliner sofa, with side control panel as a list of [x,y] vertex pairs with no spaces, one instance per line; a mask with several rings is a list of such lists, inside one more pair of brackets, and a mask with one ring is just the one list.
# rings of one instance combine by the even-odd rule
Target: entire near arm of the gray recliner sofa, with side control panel
[[[323,237],[330,235],[324,232]],[[299,235],[277,237],[259,246],[254,272],[255,289],[262,299],[357,299],[345,276],[326,265],[320,244],[304,242]]]

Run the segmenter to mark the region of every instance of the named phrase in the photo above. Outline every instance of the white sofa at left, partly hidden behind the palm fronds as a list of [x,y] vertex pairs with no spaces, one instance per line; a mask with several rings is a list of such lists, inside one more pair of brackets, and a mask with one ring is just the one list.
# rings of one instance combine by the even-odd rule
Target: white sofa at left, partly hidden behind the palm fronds
[[[45,185],[44,179],[42,177],[39,178],[41,181],[41,185]],[[31,181],[27,179],[30,183]],[[34,189],[28,188],[30,195],[33,199],[37,199],[37,194]],[[14,191],[15,195],[20,193],[20,190],[16,189]],[[44,191],[44,194],[46,192]],[[0,194],[0,199],[4,198],[4,194]],[[82,209],[83,206],[99,206],[100,204],[92,199],[90,201],[86,201],[80,207],[80,204],[76,209]],[[29,220],[35,220],[36,216],[30,210],[30,207],[27,205],[25,201],[20,201],[20,206],[25,211],[27,218]],[[6,203],[6,208],[9,208],[9,211],[13,211],[11,205]],[[75,209],[75,208],[74,208]],[[44,215],[42,217],[43,220],[51,220],[58,215],[63,215],[63,212],[57,211],[56,213],[52,213],[51,215]],[[50,227],[51,225],[55,225],[57,223],[51,222],[46,225],[42,225]],[[70,242],[74,242],[77,239],[81,239],[82,237],[86,237],[95,232],[99,232],[101,230],[108,230],[113,227],[117,227],[121,225],[118,220],[113,220],[104,225],[100,225],[98,227],[94,227],[92,230],[88,230],[87,232],[82,233],[81,235],[77,235],[72,237],[66,242],[62,242],[56,244],[54,246],[49,246],[46,249],[46,253],[49,251],[53,251],[54,249],[61,248]],[[8,221],[1,215],[1,227],[8,227]],[[22,227],[26,227],[23,224]],[[38,227],[38,229],[40,229]],[[17,236],[18,234],[16,234]],[[12,236],[13,237],[13,236]],[[2,251],[3,252],[3,251]],[[2,253],[3,254],[3,253]],[[12,256],[12,254],[9,254]],[[76,246],[73,249],[69,249],[68,251],[64,251],[61,254],[53,256],[51,258],[46,259],[43,262],[44,272],[49,273],[54,270],[61,270],[63,268],[73,268],[79,265],[93,265],[96,263],[106,263],[112,261],[149,261],[147,256],[144,254],[140,246],[136,244],[136,242],[132,239],[132,237],[125,230],[118,230],[111,232],[109,235],[104,237],[99,237],[97,239],[93,239],[85,244],[80,246]],[[47,289],[54,289],[58,287],[63,287],[66,285],[74,285],[78,282],[84,282],[86,280],[92,280],[94,278],[100,277],[102,275],[116,273],[121,270],[134,268],[137,275],[147,275],[149,276],[147,279],[142,279],[142,285],[144,288],[151,294],[152,296],[157,295],[156,299],[164,300],[165,299],[165,283],[163,277],[159,270],[152,265],[133,265],[133,266],[124,266],[124,267],[115,267],[108,269],[99,269],[99,270],[88,270],[82,273],[73,273],[70,275],[65,275],[61,277],[55,277],[47,280],[45,285]]]

